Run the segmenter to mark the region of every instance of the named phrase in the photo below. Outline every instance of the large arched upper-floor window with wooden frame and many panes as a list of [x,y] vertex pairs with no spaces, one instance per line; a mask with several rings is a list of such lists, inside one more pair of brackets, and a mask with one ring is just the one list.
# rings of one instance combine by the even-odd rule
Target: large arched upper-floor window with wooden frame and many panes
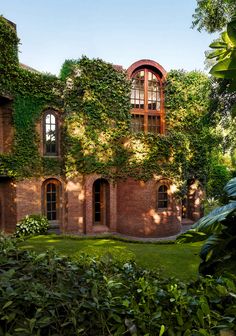
[[131,82],[132,131],[163,133],[163,99],[159,76],[145,68],[134,72]]

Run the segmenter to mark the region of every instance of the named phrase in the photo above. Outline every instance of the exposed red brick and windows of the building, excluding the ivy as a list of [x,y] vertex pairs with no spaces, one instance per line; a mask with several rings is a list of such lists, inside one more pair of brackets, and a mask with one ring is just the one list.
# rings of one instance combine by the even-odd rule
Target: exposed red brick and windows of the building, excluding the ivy
[[[29,69],[32,71],[32,69]],[[155,61],[139,60],[127,70],[132,82],[133,132],[165,134],[164,83],[166,71]],[[11,153],[14,139],[14,97],[0,95],[0,152]],[[63,156],[61,112],[44,109],[35,129],[41,156]],[[160,175],[148,181],[127,178],[111,181],[101,174],[0,176],[0,230],[13,232],[28,214],[44,214],[62,233],[118,232],[138,237],[163,237],[181,230],[186,220],[200,217],[202,191],[189,181],[181,200],[174,182]]]

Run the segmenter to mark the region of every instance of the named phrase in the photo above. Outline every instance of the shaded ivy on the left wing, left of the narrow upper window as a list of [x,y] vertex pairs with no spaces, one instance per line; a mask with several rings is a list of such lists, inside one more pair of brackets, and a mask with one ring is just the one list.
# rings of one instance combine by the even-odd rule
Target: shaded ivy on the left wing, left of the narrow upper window
[[[18,42],[15,29],[0,17],[0,93],[13,98],[15,128],[13,151],[0,155],[0,170],[9,176],[24,178],[52,173],[52,164],[39,155],[36,123],[40,122],[44,109],[62,107],[62,83],[55,76],[21,68],[17,58]],[[48,171],[47,167],[50,167]],[[58,171],[55,167],[53,173]]]

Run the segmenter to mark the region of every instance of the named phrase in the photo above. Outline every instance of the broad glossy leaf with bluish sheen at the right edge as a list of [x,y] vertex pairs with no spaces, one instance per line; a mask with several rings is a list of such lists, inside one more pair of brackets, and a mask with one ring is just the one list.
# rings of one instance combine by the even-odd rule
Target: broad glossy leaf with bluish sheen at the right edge
[[222,223],[229,215],[236,211],[236,201],[226,204],[211,211],[201,218],[192,228],[207,235],[217,233],[222,229]]

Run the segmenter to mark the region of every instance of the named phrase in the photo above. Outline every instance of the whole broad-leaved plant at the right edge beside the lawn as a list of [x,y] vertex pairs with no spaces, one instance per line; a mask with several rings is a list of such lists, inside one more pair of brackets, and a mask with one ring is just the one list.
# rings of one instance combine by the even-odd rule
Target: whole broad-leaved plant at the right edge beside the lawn
[[200,251],[202,274],[222,269],[235,271],[236,260],[236,178],[225,186],[229,203],[201,218],[190,230],[177,238],[177,243],[205,240]]

